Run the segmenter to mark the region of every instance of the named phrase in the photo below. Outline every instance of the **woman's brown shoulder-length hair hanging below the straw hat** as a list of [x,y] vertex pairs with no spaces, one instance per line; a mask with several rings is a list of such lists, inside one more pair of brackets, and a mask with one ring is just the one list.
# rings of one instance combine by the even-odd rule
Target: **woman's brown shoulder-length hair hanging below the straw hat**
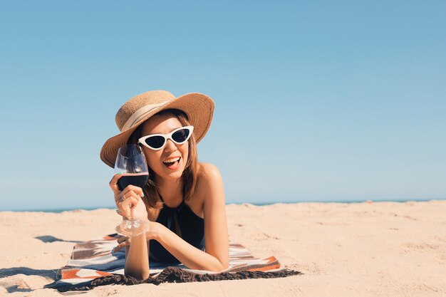
[[[173,115],[175,118],[177,118],[180,123],[184,126],[189,126],[189,118],[187,118],[186,113],[184,113],[182,110],[177,109],[166,109],[161,110],[159,113],[156,113],[155,115]],[[138,139],[142,137],[142,124],[136,128],[135,131],[133,131],[132,135],[128,138],[127,143],[128,144],[137,144]],[[197,184],[197,170],[198,170],[198,155],[197,155],[197,143],[195,142],[195,137],[192,133],[189,140],[189,150],[188,150],[188,159],[186,162],[185,170],[182,172],[182,179],[183,179],[183,189],[182,189],[182,195],[183,198],[187,201],[192,198],[192,195],[194,194],[195,184]],[[160,199],[160,194],[158,193],[157,189],[159,188],[157,184],[155,183],[155,172],[152,170],[152,168],[149,168],[149,180],[145,187],[142,188],[142,192],[144,192],[144,197],[142,197],[142,201],[150,207],[154,208],[161,208],[162,202]]]

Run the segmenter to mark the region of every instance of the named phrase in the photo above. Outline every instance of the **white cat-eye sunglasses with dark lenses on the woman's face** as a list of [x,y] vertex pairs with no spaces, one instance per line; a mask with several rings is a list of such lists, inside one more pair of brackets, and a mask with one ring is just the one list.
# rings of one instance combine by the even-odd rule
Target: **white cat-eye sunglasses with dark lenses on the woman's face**
[[150,148],[151,150],[161,150],[170,139],[177,145],[182,145],[187,142],[194,131],[194,126],[179,127],[168,134],[151,134],[143,136],[138,140],[138,143]]

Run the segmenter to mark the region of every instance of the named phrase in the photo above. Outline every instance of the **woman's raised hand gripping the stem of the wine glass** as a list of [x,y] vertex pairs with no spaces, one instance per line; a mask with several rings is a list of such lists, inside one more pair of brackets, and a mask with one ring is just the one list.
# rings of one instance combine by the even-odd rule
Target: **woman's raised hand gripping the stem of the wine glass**
[[133,186],[129,184],[123,191],[120,191],[118,187],[118,179],[120,179],[120,174],[113,175],[110,180],[110,188],[115,194],[115,203],[123,217],[130,218],[131,211],[133,208],[133,219],[147,220],[147,209],[142,201],[141,197],[144,197],[144,193],[140,187]]

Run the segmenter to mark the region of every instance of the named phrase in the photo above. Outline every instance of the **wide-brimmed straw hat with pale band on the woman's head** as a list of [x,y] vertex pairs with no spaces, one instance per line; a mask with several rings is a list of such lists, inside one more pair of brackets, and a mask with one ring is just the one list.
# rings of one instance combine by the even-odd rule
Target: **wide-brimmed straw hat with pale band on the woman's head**
[[175,98],[166,90],[150,90],[131,98],[118,110],[115,121],[120,134],[105,142],[100,150],[100,160],[115,167],[118,149],[125,145],[132,132],[152,115],[168,108],[185,112],[190,125],[194,126],[196,142],[202,140],[214,115],[214,101],[211,98],[200,93],[188,93]]

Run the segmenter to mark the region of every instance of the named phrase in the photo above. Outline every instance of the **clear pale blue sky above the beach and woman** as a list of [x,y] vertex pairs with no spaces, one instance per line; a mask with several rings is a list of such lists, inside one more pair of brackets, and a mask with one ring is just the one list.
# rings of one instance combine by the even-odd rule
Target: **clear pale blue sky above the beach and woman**
[[228,203],[446,198],[444,1],[189,2],[1,2],[0,210],[113,207],[100,148],[157,89],[214,99]]

